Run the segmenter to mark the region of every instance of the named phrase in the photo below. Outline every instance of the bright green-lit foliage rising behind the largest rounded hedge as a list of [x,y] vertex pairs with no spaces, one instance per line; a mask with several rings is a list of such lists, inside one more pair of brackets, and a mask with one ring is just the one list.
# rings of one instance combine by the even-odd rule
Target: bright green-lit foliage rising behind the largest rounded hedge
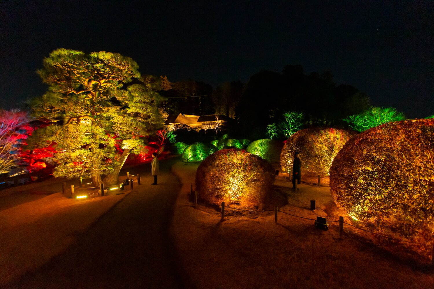
[[351,115],[344,119],[353,130],[362,132],[383,123],[404,120],[405,116],[393,107],[371,107],[361,114]]

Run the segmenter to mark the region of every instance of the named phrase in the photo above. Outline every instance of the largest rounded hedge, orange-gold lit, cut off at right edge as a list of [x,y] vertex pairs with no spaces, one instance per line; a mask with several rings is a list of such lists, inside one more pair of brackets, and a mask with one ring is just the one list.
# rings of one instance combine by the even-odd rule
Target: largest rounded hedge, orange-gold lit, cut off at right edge
[[[434,120],[385,123],[349,140],[333,161],[335,203],[361,224],[429,244],[434,230]],[[422,256],[431,245],[411,245]]]

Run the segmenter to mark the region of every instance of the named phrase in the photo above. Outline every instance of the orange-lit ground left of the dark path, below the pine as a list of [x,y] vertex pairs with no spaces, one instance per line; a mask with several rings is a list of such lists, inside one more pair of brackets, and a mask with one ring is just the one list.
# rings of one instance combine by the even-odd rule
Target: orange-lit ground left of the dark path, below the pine
[[[46,182],[48,186],[54,181]],[[31,186],[26,186],[31,189]],[[44,182],[33,184],[33,187],[41,186]],[[83,200],[65,198],[61,192],[0,198],[0,287],[69,247],[77,234],[85,231],[131,191],[124,192],[123,195]]]

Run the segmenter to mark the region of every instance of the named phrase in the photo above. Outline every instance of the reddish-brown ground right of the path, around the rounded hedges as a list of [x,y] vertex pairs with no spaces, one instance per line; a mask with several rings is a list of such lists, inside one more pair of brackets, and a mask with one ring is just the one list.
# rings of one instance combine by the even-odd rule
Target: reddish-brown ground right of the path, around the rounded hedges
[[[182,182],[175,205],[171,234],[184,270],[197,288],[434,288],[431,268],[398,260],[372,244],[339,240],[338,223],[328,231],[313,221],[273,213],[220,212],[188,202],[197,165],[177,162],[172,171]],[[278,193],[288,195],[280,210],[305,218],[339,213],[329,187],[301,184],[299,191],[284,175],[276,178]],[[316,200],[310,211],[310,200]],[[232,210],[235,211],[235,210]]]

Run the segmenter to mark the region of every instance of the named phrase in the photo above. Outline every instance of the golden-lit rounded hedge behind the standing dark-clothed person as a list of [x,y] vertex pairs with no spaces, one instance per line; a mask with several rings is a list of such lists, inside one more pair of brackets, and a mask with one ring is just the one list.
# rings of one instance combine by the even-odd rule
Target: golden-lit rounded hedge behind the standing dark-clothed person
[[301,155],[302,175],[329,176],[333,159],[345,143],[357,133],[353,130],[313,127],[299,130],[289,137],[280,154],[284,172],[293,169],[294,153]]

